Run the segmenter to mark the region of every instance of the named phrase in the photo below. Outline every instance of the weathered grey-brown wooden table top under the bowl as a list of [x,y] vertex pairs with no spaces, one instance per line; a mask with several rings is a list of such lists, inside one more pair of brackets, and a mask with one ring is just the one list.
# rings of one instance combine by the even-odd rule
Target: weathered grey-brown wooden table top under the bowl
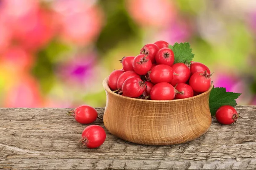
[[[96,109],[102,117],[104,108]],[[238,106],[233,125],[213,119],[205,135],[185,144],[145,146],[106,131],[97,149],[77,145],[86,125],[67,116],[70,110],[0,108],[0,169],[256,170],[256,106]]]

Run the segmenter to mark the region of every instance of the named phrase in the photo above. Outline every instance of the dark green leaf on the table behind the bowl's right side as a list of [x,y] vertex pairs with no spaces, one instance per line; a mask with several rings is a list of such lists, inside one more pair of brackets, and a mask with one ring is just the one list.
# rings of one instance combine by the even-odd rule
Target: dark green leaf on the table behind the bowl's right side
[[226,88],[213,87],[209,97],[211,115],[215,116],[216,111],[221,106],[230,105],[235,107],[237,105],[236,99],[240,95],[240,93],[227,92]]

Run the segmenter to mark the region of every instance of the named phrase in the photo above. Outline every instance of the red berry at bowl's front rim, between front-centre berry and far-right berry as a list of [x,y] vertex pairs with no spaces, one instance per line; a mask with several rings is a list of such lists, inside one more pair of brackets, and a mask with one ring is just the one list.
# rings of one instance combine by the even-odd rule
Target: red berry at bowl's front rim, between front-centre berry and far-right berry
[[175,95],[175,99],[185,99],[185,98],[193,97],[194,95],[192,87],[190,87],[186,83],[177,84],[175,89],[177,92]]

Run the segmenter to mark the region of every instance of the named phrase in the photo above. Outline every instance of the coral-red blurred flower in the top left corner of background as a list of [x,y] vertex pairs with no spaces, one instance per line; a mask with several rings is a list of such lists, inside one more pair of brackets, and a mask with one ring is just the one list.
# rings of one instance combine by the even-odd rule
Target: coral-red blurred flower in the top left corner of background
[[4,0],[2,18],[13,39],[28,50],[37,50],[53,37],[51,11],[40,8],[36,0]]

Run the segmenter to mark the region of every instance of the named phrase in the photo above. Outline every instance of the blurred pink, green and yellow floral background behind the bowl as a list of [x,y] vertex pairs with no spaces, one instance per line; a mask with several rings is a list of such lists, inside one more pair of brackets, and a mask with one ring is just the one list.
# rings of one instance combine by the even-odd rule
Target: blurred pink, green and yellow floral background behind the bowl
[[102,80],[157,40],[256,105],[255,0],[0,0],[0,107],[104,107]]

